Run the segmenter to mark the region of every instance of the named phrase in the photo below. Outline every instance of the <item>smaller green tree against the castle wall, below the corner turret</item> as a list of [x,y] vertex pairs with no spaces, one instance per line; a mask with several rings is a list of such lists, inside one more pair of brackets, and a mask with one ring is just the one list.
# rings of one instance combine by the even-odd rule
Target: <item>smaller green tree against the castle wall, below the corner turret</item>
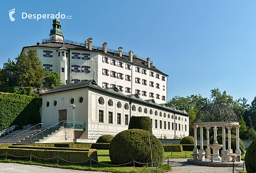
[[50,71],[46,71],[45,83],[44,88],[50,89],[53,89],[56,86],[64,85],[64,83],[61,82],[61,76],[58,74],[58,72],[51,73]]

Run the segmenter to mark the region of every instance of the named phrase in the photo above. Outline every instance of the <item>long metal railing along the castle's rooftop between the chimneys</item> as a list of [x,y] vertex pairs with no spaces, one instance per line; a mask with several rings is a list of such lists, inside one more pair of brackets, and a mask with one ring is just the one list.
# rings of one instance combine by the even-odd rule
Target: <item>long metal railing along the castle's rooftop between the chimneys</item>
[[[76,45],[76,46],[86,48],[85,43],[80,43],[80,42],[76,42],[76,41],[72,41],[72,40],[64,40],[64,39],[59,40],[59,39],[52,39],[52,38],[43,39],[42,44],[46,44],[46,43],[61,43],[61,44],[65,43],[65,44]],[[92,48],[94,50],[103,51],[102,46],[92,45]],[[114,50],[114,49],[110,49],[110,48],[107,48],[107,52],[111,52],[113,54],[119,54],[118,50]],[[128,52],[122,52],[122,54],[125,55],[125,56],[129,56]],[[139,55],[136,55],[136,54],[133,55],[133,58],[136,58],[136,59],[139,59],[141,61],[147,62],[147,59],[145,59],[145,58],[143,58]],[[153,65],[153,61],[150,61],[150,64]]]

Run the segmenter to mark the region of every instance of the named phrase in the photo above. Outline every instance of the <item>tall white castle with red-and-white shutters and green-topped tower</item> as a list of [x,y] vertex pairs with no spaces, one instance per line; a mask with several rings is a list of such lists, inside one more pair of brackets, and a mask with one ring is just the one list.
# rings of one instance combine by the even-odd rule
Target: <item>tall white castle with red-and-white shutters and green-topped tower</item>
[[45,70],[57,71],[65,84],[94,79],[102,88],[116,87],[125,95],[166,103],[168,75],[153,66],[149,57],[124,52],[121,46],[109,49],[106,42],[94,46],[92,38],[84,43],[65,40],[58,19],[53,20],[49,36],[22,51],[36,49]]

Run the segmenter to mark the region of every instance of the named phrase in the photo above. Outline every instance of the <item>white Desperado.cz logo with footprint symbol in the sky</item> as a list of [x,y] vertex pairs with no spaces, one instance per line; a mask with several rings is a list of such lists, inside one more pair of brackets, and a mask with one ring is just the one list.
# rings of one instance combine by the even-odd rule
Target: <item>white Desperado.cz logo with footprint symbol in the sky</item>
[[[15,13],[15,9],[9,11],[10,20],[13,22],[15,18],[12,16]],[[60,12],[56,11],[56,14],[27,14],[26,12],[21,13],[21,19],[72,19],[72,16],[67,16],[65,14],[60,14]]]

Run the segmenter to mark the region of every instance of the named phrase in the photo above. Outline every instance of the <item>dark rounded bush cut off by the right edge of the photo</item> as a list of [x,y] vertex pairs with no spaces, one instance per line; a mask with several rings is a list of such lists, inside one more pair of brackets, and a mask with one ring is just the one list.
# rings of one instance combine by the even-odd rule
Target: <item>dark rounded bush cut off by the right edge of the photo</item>
[[245,153],[245,167],[247,173],[255,173],[256,172],[256,140],[254,140],[250,146],[247,148]]

